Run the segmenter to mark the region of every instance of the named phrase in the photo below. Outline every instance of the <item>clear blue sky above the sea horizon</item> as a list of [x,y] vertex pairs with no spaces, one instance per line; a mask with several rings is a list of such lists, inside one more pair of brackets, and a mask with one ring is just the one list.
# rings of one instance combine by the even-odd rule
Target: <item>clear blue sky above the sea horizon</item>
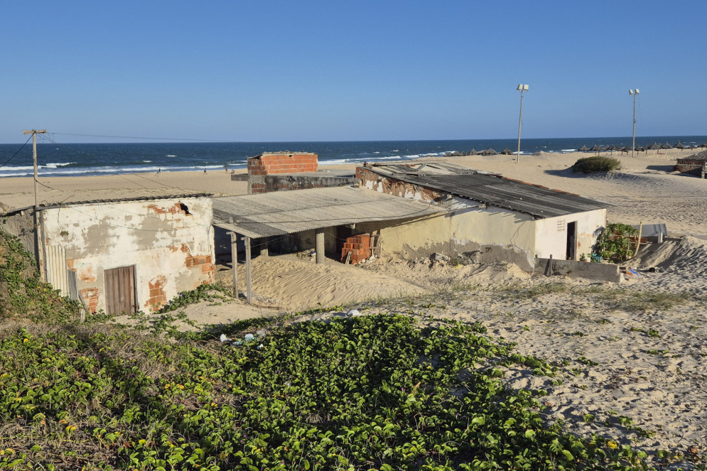
[[703,0],[1,2],[0,143],[707,134]]

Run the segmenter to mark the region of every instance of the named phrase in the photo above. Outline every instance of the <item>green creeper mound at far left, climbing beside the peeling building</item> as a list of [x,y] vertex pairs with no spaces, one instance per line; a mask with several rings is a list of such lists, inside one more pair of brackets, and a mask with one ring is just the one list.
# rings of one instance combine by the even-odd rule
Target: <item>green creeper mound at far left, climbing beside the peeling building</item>
[[0,230],[0,319],[76,320],[80,305],[40,281],[34,257],[17,237]]

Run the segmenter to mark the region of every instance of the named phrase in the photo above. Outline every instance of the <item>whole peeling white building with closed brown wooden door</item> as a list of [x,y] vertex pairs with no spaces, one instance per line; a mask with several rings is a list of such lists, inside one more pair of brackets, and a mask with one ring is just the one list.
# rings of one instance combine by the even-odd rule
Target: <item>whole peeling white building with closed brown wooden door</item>
[[[149,312],[214,281],[210,195],[72,202],[14,210],[0,227],[87,310]],[[36,232],[33,227],[38,227]]]

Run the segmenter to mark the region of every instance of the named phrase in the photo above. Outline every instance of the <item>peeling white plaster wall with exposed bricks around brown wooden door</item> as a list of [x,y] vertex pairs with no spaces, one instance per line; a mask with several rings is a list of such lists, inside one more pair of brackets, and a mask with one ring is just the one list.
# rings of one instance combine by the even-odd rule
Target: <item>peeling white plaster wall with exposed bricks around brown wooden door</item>
[[[103,202],[43,211],[45,245],[65,248],[78,289],[104,309],[104,270],[135,266],[139,310],[214,281],[209,197]],[[88,302],[88,300],[86,300]]]

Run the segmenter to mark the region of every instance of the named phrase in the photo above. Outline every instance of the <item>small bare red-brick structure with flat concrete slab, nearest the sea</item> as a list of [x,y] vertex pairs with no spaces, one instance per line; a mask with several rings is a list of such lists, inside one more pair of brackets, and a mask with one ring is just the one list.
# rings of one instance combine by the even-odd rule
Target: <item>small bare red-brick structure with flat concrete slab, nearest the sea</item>
[[247,181],[248,194],[305,190],[352,185],[355,175],[347,171],[318,170],[312,152],[264,152],[248,159],[248,173],[234,173],[231,180]]

